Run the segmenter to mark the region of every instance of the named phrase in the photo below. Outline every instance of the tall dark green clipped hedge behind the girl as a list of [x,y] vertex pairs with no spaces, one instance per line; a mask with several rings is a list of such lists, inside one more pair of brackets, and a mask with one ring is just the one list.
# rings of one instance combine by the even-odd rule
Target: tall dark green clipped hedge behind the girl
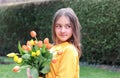
[[[18,41],[25,43],[30,39],[29,32],[31,30],[35,30],[38,33],[37,37],[39,39],[43,40],[45,37],[48,37],[52,43],[52,18],[54,13],[62,7],[73,8],[82,26],[81,42],[83,53],[80,59],[81,65],[91,65],[96,67],[99,65],[109,65],[111,66],[110,68],[119,68],[119,0],[51,0],[0,6],[1,65],[6,61],[6,58],[4,58],[6,54],[18,52]],[[81,71],[83,76],[81,78],[120,77],[118,74],[115,74],[114,77],[95,77],[94,75],[89,77],[85,70],[90,69],[87,69],[87,67],[84,68],[84,66],[81,68],[81,70],[84,71],[84,73]],[[95,74],[95,72],[92,74]],[[88,77],[84,77],[84,75]]]

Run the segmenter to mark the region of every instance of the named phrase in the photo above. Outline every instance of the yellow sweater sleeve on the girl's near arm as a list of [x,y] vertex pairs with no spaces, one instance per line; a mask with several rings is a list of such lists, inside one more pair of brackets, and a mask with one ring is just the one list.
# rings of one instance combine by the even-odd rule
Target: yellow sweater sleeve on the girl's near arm
[[75,50],[66,48],[61,58],[56,78],[74,78],[76,72]]

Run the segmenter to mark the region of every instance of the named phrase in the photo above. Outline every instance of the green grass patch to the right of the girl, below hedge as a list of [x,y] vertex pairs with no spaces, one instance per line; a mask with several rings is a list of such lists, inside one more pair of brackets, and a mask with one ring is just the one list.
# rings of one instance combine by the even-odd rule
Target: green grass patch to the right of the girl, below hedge
[[80,78],[120,78],[120,72],[81,66]]

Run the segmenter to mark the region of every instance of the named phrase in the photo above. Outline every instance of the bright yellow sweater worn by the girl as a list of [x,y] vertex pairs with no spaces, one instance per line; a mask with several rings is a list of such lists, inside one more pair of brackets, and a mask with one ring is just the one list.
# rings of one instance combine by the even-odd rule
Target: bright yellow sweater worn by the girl
[[54,52],[56,62],[51,62],[51,71],[46,78],[79,78],[79,58],[76,48],[64,42],[55,45],[50,51]]

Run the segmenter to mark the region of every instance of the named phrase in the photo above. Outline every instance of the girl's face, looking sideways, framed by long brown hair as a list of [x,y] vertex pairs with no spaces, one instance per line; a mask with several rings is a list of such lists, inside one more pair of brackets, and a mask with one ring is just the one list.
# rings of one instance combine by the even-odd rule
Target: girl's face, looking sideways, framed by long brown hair
[[67,16],[61,16],[55,23],[55,33],[57,36],[57,43],[62,43],[71,38],[73,34],[70,19]]

